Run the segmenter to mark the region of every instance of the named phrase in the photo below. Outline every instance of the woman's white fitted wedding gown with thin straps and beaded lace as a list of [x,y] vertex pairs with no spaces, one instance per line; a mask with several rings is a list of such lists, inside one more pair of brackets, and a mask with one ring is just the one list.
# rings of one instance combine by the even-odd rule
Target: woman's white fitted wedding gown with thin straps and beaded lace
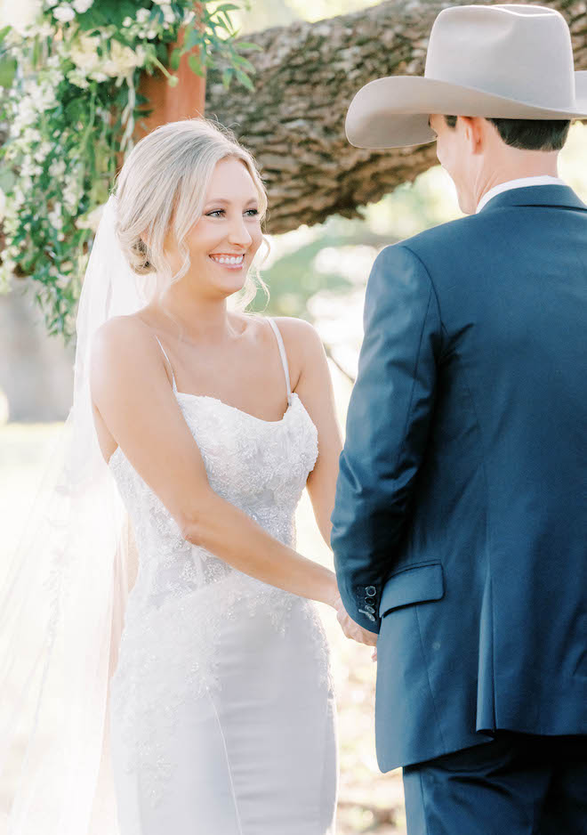
[[[294,547],[318,433],[269,323],[281,420],[178,392],[174,377],[173,391],[213,490]],[[109,467],[140,555],[110,690],[120,835],[332,835],[334,688],[316,604],[186,542],[120,448]]]

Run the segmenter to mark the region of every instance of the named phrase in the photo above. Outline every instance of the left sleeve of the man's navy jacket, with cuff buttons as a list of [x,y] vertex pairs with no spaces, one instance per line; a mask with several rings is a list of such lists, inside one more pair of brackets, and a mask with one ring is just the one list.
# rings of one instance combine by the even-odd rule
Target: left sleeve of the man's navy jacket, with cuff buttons
[[442,337],[430,276],[405,245],[386,247],[375,259],[364,322],[331,544],[345,609],[379,632],[382,588],[397,561],[428,440]]

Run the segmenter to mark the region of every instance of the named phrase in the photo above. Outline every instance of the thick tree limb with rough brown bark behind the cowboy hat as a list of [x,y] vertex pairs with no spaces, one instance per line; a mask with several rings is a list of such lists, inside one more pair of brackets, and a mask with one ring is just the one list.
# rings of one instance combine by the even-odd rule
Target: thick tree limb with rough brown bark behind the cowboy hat
[[[358,207],[436,164],[434,143],[354,148],[344,134],[344,119],[353,95],[368,81],[423,75],[438,12],[471,2],[476,0],[390,0],[364,12],[246,36],[262,50],[248,55],[257,70],[254,93],[237,85],[227,91],[220,71],[210,72],[207,116],[231,128],[257,159],[269,191],[269,232],[322,223],[333,214],[357,216]],[[541,2],[565,16],[575,69],[587,69],[587,4]]]

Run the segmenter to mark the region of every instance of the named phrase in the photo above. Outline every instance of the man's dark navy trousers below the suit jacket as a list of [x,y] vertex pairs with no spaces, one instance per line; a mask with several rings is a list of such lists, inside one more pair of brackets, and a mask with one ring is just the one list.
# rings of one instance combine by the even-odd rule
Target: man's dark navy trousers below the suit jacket
[[586,835],[587,736],[497,732],[404,768],[407,835]]

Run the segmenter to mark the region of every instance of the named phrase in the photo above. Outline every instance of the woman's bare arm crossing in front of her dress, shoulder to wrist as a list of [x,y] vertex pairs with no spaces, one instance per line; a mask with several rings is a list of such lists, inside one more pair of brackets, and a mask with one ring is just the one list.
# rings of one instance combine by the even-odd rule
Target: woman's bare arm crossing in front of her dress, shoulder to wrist
[[149,328],[126,316],[99,328],[90,380],[109,432],[185,539],[271,586],[335,605],[334,572],[271,537],[213,491]]

